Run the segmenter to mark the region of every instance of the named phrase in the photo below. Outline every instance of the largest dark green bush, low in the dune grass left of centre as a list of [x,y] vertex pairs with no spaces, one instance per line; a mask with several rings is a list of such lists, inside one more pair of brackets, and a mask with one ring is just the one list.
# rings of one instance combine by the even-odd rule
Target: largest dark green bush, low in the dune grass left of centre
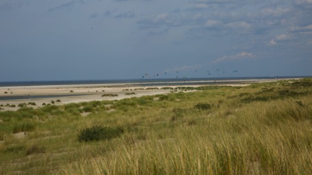
[[120,128],[92,126],[91,128],[79,130],[78,140],[79,142],[108,140],[119,137],[122,133],[124,133],[124,131]]

